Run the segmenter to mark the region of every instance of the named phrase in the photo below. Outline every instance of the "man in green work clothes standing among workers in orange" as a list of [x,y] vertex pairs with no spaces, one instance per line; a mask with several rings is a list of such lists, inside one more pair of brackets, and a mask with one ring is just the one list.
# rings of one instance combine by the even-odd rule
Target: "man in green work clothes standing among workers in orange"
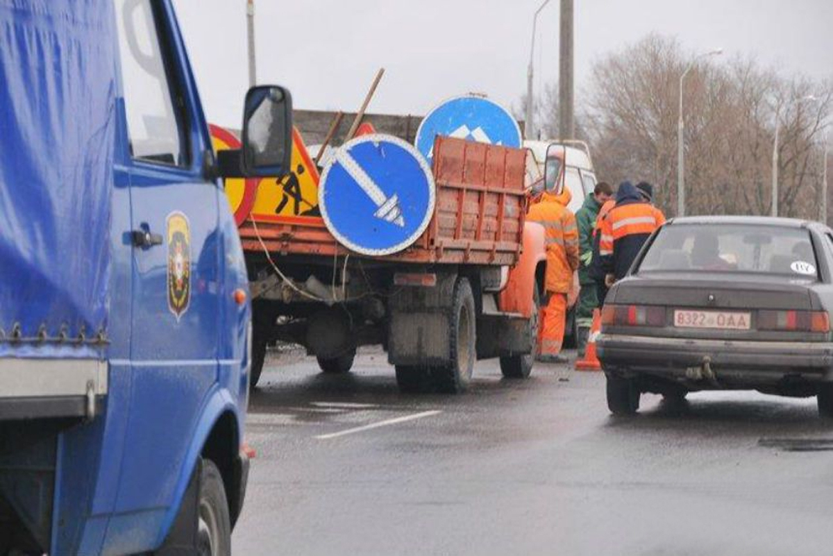
[[578,347],[579,357],[584,356],[587,335],[590,334],[590,327],[593,324],[593,310],[599,305],[598,296],[596,295],[596,280],[591,276],[593,229],[596,227],[596,216],[599,215],[599,209],[611,196],[613,196],[613,188],[606,181],[600,181],[596,184],[593,192],[586,197],[581,208],[576,211],[580,259],[578,280],[581,285],[578,305],[576,305],[576,325],[578,327],[576,347]]

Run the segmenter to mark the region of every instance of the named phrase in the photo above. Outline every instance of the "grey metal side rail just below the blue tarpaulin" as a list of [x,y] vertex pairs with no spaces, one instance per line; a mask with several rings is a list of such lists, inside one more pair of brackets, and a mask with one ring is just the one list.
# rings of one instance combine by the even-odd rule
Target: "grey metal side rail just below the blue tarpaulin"
[[107,395],[107,362],[0,358],[0,421],[93,419]]

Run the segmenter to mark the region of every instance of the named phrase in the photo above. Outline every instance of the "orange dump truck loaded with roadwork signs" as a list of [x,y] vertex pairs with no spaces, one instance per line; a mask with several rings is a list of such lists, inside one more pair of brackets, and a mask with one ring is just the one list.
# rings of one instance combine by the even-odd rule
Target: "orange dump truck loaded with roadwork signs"
[[326,373],[382,345],[403,391],[465,390],[476,359],[528,376],[546,253],[543,228],[525,223],[526,151],[437,137],[426,231],[403,251],[363,256],[317,216],[317,168],[295,141],[291,176],[229,190],[252,290],[252,384],[276,341],[303,345]]

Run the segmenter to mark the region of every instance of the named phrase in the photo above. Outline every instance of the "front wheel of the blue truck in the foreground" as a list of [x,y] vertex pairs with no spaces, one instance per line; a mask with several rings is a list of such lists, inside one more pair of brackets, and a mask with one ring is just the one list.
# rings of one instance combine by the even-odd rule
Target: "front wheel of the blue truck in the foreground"
[[202,460],[197,520],[197,554],[231,556],[232,521],[228,514],[226,488],[217,465]]

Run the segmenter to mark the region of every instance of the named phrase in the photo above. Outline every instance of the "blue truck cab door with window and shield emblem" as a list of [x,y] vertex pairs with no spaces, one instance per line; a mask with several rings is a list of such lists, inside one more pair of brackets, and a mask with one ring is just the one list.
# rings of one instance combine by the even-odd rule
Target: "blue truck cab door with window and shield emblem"
[[132,212],[132,380],[105,548],[132,553],[152,547],[217,384],[220,191],[203,176],[210,146],[170,7],[116,5]]

